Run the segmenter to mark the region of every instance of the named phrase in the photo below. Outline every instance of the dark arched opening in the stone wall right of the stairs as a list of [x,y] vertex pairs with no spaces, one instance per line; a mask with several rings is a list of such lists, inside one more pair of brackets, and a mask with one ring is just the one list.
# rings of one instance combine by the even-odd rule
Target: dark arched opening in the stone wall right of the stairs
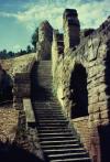
[[70,77],[70,117],[78,118],[88,115],[87,73],[81,64],[76,64]]

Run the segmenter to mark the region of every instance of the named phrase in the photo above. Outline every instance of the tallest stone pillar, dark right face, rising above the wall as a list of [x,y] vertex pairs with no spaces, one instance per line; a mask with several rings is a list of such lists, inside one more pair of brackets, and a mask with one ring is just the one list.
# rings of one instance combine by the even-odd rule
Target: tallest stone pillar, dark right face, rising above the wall
[[80,42],[80,23],[78,20],[78,13],[75,9],[66,9],[63,15],[64,28],[64,53],[69,47],[75,47]]

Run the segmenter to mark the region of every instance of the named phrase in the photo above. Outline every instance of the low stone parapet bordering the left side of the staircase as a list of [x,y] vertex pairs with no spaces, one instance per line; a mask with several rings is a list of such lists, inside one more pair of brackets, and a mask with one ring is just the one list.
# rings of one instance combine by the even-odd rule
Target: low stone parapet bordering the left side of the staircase
[[[44,155],[38,143],[37,130],[35,128],[35,118],[31,104],[30,75],[35,62],[35,55],[33,55],[33,58],[31,58],[31,61],[24,65],[21,72],[14,73],[13,107],[19,111],[18,137],[23,139],[23,137],[26,134],[29,145],[31,144],[33,153],[37,158],[44,160]],[[25,139],[23,139],[23,141]]]

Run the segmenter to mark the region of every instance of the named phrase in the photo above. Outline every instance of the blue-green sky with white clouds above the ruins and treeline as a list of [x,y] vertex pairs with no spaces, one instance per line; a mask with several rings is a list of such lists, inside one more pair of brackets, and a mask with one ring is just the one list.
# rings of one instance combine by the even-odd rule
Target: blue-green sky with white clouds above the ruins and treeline
[[77,10],[81,29],[96,29],[110,15],[110,0],[0,0],[0,51],[25,48],[44,20],[63,31],[65,8]]

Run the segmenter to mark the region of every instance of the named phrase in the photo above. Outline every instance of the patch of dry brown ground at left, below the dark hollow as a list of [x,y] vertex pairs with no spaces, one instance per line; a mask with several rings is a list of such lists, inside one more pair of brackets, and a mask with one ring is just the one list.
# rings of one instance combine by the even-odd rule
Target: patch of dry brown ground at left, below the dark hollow
[[12,105],[0,107],[0,140],[13,141],[18,128],[18,111]]

